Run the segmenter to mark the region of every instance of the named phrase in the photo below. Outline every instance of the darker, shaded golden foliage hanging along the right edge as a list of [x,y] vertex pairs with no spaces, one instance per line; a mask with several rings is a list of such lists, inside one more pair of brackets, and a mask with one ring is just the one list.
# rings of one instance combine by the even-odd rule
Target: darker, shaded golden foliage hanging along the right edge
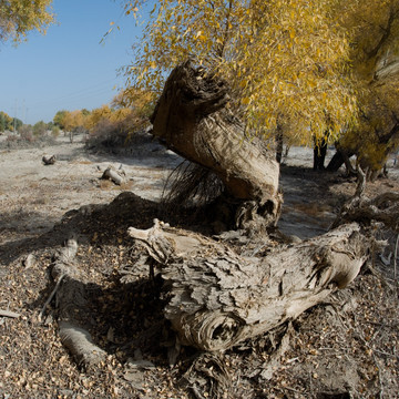
[[399,1],[342,0],[340,7],[359,104],[358,124],[340,144],[379,170],[399,145]]

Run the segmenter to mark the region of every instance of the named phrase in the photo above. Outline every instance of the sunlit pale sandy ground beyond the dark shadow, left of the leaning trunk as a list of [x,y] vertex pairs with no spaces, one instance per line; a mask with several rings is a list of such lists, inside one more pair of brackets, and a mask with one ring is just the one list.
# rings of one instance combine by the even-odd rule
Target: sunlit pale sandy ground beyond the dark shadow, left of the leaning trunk
[[[140,152],[134,157],[88,153],[83,136],[73,144],[59,137],[57,145],[44,149],[1,150],[0,241],[43,233],[65,212],[109,203],[125,191],[158,200],[168,172],[181,158],[156,143],[143,145]],[[55,155],[58,161],[45,166],[43,155]],[[122,167],[125,183],[101,180],[109,166]]]

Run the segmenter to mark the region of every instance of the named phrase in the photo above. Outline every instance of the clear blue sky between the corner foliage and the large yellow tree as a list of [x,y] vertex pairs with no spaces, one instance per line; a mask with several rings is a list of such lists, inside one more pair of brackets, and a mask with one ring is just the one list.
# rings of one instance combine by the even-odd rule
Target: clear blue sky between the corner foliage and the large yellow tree
[[[111,102],[124,82],[117,69],[140,37],[119,0],[54,0],[53,11],[58,22],[45,35],[31,32],[17,48],[0,43],[0,111],[24,123]],[[121,29],[100,44],[111,22]]]

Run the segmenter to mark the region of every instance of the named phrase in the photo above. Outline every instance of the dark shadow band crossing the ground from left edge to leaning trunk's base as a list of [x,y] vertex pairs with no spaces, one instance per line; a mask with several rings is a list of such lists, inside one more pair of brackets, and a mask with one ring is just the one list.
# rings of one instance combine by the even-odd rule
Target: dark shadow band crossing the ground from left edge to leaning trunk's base
[[[201,229],[201,224],[206,226],[206,221],[200,211],[174,208],[165,212],[162,203],[142,198],[132,192],[124,192],[110,204],[89,204],[66,212],[59,223],[39,236],[1,244],[0,264],[7,266],[35,250],[57,248],[71,234],[78,236],[78,244],[132,245],[133,241],[127,236],[127,228],[131,226],[150,228],[154,218],[190,229]],[[195,225],[196,223],[200,227]]]

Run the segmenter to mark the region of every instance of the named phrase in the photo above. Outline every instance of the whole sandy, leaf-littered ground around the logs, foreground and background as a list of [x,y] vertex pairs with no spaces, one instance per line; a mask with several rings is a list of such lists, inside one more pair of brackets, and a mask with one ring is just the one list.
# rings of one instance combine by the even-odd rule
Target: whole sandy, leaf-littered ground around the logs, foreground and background
[[[314,172],[311,153],[291,149],[282,165],[285,203],[279,227],[301,238],[327,231],[356,187],[355,180]],[[44,166],[44,154],[55,154],[57,163]],[[120,200],[111,216],[112,206],[88,215],[70,212],[108,204],[126,191],[158,201],[168,172],[180,162],[151,141],[116,155],[86,152],[82,137],[73,144],[60,137],[57,145],[43,149],[0,150],[0,309],[21,314],[16,319],[0,318],[0,398],[193,397],[190,387],[181,385],[193,362],[192,352],[184,350],[174,368],[166,361],[162,306],[154,285],[146,277],[122,282],[141,270],[141,258],[126,237],[127,224],[130,219],[151,224],[153,204],[133,198],[134,208],[121,209],[120,204],[129,202]],[[109,165],[122,165],[126,174],[122,186],[100,180]],[[390,177],[368,184],[368,194],[399,192],[398,172],[389,165]],[[108,352],[94,374],[83,372],[63,348],[57,305],[43,308],[54,288],[49,276],[54,245],[61,245],[70,226],[78,226],[85,237],[78,260],[90,277],[85,291],[91,334]],[[34,259],[31,265],[29,255]],[[273,345],[259,337],[250,347],[224,354],[221,359],[229,376],[224,397],[397,397],[399,307],[396,286],[390,287],[392,280],[366,269],[331,298],[330,306],[316,307],[296,320],[290,346],[277,362],[268,364],[268,347],[276,349],[274,335]],[[44,323],[38,319],[42,309]],[[137,359],[142,356],[151,365],[149,369],[130,366],[137,351]],[[212,369],[205,371],[203,376],[209,376]],[[203,397],[214,397],[209,392],[204,390]]]

